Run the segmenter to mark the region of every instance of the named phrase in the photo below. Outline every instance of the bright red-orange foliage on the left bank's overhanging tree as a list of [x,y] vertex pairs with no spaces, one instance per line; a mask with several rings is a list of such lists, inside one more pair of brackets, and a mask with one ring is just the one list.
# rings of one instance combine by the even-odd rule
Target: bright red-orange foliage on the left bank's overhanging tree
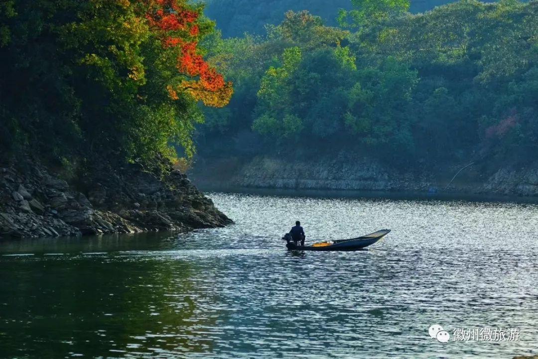
[[178,100],[177,90],[185,90],[196,100],[212,107],[223,107],[233,94],[231,82],[210,67],[198,53],[199,13],[189,8],[186,0],[147,0],[150,4],[146,18],[153,31],[161,37],[164,48],[178,48],[176,67],[193,80],[183,81],[175,89],[168,85],[169,96]]

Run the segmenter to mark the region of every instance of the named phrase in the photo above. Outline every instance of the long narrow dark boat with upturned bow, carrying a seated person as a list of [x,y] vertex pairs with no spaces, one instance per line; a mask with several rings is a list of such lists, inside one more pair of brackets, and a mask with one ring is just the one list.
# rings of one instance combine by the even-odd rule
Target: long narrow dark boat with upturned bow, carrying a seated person
[[356,251],[378,242],[381,238],[389,234],[390,231],[390,229],[382,229],[362,237],[351,238],[349,240],[318,242],[313,245],[296,245],[288,239],[286,247],[288,250],[300,251]]

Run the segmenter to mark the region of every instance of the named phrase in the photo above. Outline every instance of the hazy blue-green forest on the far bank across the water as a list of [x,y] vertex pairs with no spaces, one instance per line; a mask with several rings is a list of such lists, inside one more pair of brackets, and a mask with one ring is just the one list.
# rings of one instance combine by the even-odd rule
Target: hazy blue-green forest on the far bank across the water
[[204,111],[204,156],[344,149],[407,166],[538,154],[538,1],[415,15],[407,0],[351,3],[338,26],[288,11],[264,36],[208,38],[235,95]]

